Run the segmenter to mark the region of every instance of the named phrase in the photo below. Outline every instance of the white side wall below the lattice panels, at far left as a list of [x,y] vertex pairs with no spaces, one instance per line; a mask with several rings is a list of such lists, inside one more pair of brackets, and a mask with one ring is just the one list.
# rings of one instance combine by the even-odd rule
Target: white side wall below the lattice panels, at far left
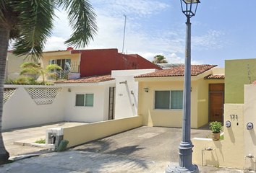
[[64,101],[66,92],[61,89],[51,105],[36,105],[25,87],[56,87],[56,86],[27,86],[5,85],[15,87],[16,92],[4,104],[2,129],[20,128],[43,123],[54,123],[64,120]]

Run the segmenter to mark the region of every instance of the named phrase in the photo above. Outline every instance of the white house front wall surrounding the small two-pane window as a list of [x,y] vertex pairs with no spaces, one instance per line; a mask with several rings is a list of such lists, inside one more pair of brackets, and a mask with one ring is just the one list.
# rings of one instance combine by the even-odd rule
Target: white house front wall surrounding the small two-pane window
[[[109,87],[115,86],[114,82],[102,86],[70,86],[71,92],[67,92],[67,101],[64,108],[64,120],[97,122],[108,120],[108,95]],[[93,107],[76,107],[76,94],[94,94]]]

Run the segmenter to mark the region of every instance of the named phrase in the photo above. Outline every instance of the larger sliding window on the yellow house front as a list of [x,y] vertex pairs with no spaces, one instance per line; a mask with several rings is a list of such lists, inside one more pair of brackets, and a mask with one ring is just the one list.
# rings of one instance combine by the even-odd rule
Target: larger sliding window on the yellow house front
[[155,109],[182,110],[183,91],[155,91]]

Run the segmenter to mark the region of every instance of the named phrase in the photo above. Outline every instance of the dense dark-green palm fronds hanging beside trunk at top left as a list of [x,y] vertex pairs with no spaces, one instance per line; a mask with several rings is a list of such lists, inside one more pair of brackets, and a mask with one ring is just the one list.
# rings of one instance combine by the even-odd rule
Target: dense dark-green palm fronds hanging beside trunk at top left
[[31,54],[40,58],[46,39],[53,29],[54,2],[51,0],[20,0],[12,4],[14,12],[21,12],[17,28],[20,35],[14,43],[14,54]]

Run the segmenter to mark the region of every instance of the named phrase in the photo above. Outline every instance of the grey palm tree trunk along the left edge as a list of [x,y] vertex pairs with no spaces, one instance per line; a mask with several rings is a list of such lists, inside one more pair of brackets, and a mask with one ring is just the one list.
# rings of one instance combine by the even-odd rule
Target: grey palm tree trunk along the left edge
[[3,116],[4,107],[4,76],[5,66],[7,63],[7,50],[9,44],[9,28],[0,25],[0,165],[7,162],[9,153],[4,147],[3,137],[1,135],[1,120]]

